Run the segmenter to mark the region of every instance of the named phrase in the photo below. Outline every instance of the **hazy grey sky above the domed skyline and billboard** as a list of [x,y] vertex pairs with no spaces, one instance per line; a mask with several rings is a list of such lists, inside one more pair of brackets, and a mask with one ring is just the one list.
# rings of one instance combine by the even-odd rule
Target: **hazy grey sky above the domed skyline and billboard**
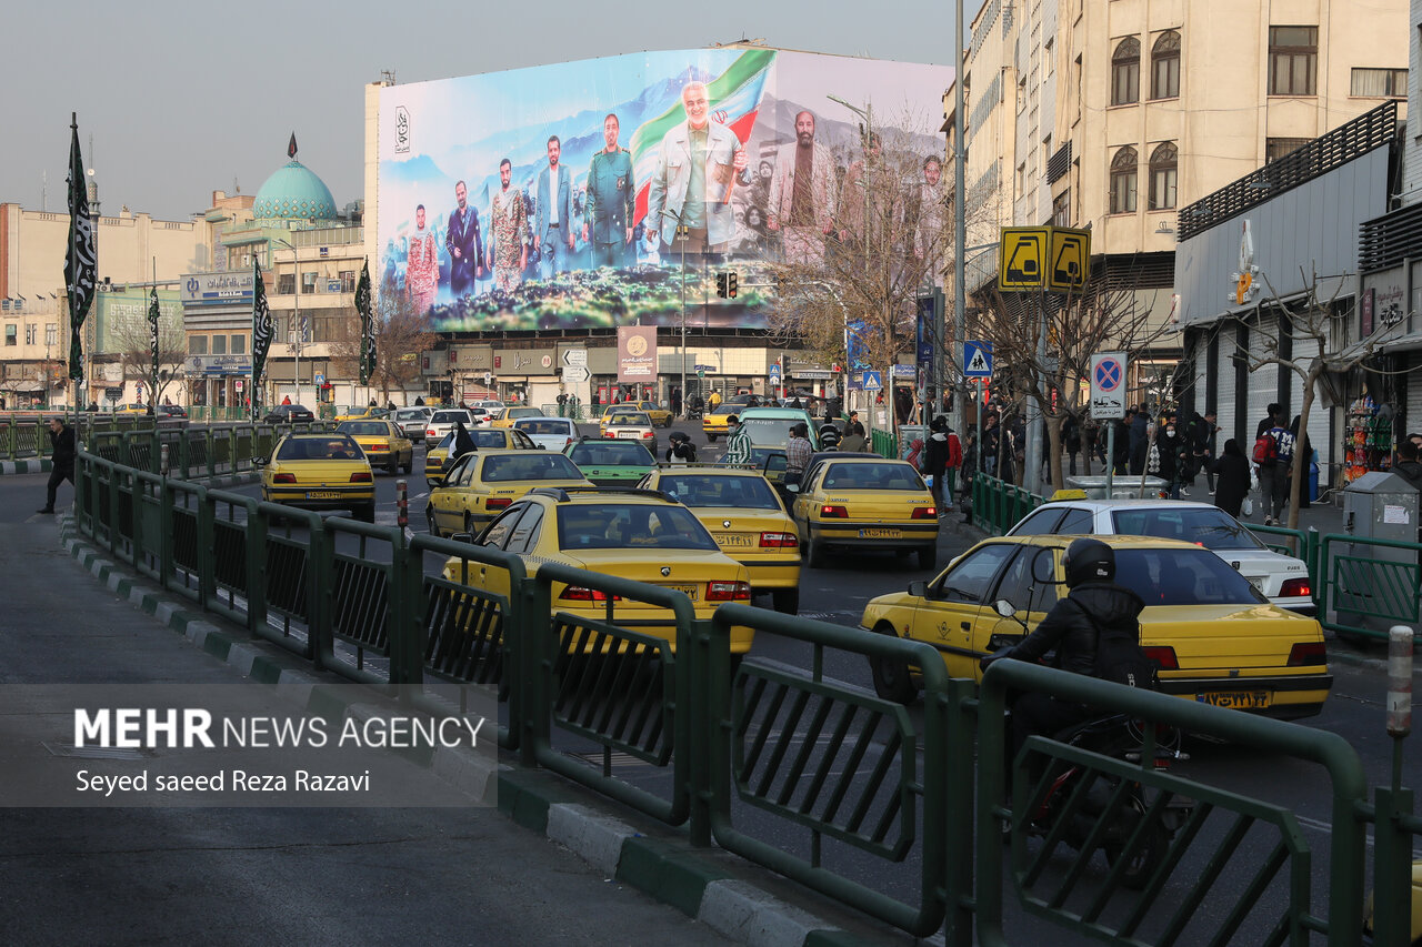
[[[970,20],[980,3],[966,0]],[[47,188],[46,208],[65,209],[77,111],[104,213],[162,219],[206,209],[233,182],[255,195],[293,131],[337,206],[360,199],[363,90],[383,70],[417,82],[742,37],[953,65],[946,0],[71,0],[9,4],[4,20],[0,200],[38,210]]]

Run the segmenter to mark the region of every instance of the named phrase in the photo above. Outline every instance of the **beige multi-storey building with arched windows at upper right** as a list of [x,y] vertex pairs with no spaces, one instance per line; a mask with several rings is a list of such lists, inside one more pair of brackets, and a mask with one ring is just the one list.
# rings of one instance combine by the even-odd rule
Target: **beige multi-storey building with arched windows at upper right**
[[[1094,274],[1162,327],[1177,209],[1402,98],[1405,17],[1404,0],[988,0],[963,80],[968,245],[1091,228]],[[970,291],[997,274],[993,255],[970,263]],[[1165,373],[1179,334],[1152,351]]]

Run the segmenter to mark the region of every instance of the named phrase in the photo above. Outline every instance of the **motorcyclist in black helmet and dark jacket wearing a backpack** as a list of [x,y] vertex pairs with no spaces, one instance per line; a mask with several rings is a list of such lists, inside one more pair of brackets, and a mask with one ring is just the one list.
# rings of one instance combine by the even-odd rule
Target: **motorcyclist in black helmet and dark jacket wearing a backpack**
[[[1062,671],[1153,687],[1155,663],[1140,650],[1140,611],[1146,603],[1130,589],[1116,584],[1116,552],[1099,539],[1074,539],[1062,556],[1062,572],[1068,594],[1057,600],[1031,634],[1008,650],[984,657],[981,667],[987,670],[1001,658],[1041,661],[1055,650],[1052,667]],[[1012,701],[1008,762],[1017,758],[1028,737],[1051,737],[1095,714],[1091,707],[1039,691],[1020,694]]]

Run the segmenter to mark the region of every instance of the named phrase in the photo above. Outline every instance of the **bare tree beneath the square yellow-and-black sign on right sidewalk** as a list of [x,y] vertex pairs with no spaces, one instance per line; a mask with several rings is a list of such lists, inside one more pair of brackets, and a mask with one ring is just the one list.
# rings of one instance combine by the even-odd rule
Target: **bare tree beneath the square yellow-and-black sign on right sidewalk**
[[[968,323],[970,331],[993,344],[994,370],[1010,373],[1017,395],[1039,405],[1055,489],[1065,483],[1062,422],[1068,417],[1084,419],[1089,408],[1081,391],[1089,382],[1092,355],[1102,351],[1132,355],[1166,331],[1163,324],[1152,327],[1153,307],[1143,301],[1133,282],[1119,274],[1109,282],[1096,276],[1079,293],[1003,294],[994,287],[977,296],[978,310]],[[1044,319],[1045,360],[1038,353]],[[1086,464],[1089,472],[1089,458]]]

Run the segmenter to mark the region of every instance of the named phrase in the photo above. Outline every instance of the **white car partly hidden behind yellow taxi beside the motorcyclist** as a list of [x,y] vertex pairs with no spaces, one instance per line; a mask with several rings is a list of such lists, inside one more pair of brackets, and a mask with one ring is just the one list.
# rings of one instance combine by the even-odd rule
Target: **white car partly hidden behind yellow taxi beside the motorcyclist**
[[[1008,536],[1156,536],[1204,546],[1230,563],[1281,609],[1317,613],[1313,580],[1303,559],[1268,549],[1219,506],[1190,501],[1101,499],[1044,503]],[[1146,603],[1149,604],[1149,603]]]

